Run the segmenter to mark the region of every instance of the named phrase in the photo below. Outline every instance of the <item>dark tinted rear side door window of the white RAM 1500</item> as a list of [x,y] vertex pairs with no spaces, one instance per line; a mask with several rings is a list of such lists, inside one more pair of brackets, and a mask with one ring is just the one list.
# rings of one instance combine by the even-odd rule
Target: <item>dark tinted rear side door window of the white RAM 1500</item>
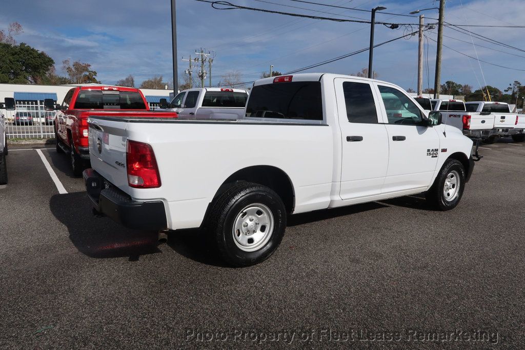
[[346,117],[352,123],[377,123],[372,88],[367,83],[345,81],[343,83]]

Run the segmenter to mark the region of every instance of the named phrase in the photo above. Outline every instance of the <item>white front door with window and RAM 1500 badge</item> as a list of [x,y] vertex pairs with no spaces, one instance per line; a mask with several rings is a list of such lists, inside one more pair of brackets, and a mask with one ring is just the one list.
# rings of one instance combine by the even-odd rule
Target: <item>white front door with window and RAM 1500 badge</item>
[[[441,151],[436,128],[423,125],[423,110],[404,91],[387,84],[374,84],[381,96],[389,143],[388,170],[382,193],[428,187]],[[384,103],[386,98],[387,103]],[[391,103],[393,98],[398,99],[396,104]],[[403,111],[388,109],[391,105],[401,106]]]

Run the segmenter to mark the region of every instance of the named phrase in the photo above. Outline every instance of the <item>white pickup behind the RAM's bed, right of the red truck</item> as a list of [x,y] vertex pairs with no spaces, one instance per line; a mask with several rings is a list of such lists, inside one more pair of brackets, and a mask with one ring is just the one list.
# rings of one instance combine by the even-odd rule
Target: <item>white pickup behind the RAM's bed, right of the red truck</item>
[[239,119],[244,116],[248,93],[243,89],[201,88],[182,90],[169,104],[161,99],[156,111],[177,112],[181,119]]

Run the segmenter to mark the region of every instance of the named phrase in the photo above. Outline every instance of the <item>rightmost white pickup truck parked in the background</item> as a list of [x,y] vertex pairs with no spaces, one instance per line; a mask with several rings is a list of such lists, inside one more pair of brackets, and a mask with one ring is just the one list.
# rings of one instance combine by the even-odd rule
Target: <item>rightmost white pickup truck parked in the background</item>
[[523,141],[523,128],[518,125],[520,117],[511,113],[509,105],[505,102],[475,101],[466,102],[467,112],[477,112],[493,118],[492,135],[485,140],[492,143],[497,137],[511,136],[514,141]]

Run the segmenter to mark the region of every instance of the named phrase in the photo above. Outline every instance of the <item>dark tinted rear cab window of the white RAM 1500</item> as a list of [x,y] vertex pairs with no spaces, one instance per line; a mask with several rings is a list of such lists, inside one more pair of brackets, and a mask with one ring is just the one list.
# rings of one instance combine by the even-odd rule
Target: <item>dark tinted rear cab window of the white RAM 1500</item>
[[323,120],[321,83],[291,81],[251,89],[246,117]]

